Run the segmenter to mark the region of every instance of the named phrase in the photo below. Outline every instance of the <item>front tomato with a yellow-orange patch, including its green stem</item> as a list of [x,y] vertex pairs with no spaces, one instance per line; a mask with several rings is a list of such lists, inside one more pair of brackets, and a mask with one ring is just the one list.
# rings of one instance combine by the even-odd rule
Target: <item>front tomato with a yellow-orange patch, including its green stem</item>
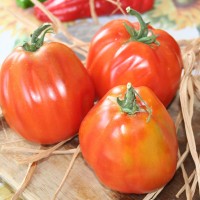
[[148,193],[174,176],[176,130],[151,89],[133,89],[130,83],[127,88],[109,90],[88,112],[79,129],[80,147],[105,186],[123,193]]

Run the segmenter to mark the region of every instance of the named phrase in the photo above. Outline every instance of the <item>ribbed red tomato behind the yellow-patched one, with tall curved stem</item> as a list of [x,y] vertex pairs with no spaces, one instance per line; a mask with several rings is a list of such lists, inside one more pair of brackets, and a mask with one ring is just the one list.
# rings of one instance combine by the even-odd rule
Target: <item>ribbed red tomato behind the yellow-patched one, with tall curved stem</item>
[[101,98],[112,87],[131,82],[151,88],[167,107],[180,83],[180,48],[166,31],[148,25],[136,11],[129,12],[139,23],[112,20],[91,40],[86,68],[96,96]]

